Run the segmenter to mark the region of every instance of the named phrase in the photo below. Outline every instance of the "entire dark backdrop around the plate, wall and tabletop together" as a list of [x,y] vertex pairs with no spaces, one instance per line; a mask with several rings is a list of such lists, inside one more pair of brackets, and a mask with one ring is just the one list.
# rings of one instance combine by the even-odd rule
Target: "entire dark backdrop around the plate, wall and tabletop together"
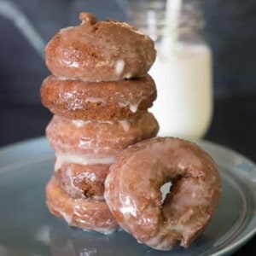
[[[48,42],[60,28],[79,24],[81,10],[94,13],[98,20],[128,20],[120,8],[124,2],[0,0],[0,146],[43,136],[51,117],[39,98],[40,85],[49,71],[18,29],[24,20],[17,14],[24,14]],[[214,114],[205,138],[256,161],[256,1],[199,2],[214,60]],[[10,4],[15,12],[9,11]],[[235,255],[256,255],[253,242],[255,238]]]

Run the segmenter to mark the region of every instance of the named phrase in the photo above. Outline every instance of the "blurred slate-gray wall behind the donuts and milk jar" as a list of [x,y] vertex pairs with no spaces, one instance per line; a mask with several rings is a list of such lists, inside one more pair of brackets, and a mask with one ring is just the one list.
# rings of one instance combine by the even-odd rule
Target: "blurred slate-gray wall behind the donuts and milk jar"
[[[93,12],[98,20],[127,20],[113,0],[6,0],[32,22],[49,41],[56,31],[79,24],[79,12]],[[0,4],[3,3],[0,0]],[[216,97],[256,94],[256,2],[254,0],[200,0],[205,12],[207,42],[214,57]],[[19,22],[19,21],[15,21]],[[13,20],[0,15],[0,102],[39,103],[39,88],[49,74],[44,61]]]

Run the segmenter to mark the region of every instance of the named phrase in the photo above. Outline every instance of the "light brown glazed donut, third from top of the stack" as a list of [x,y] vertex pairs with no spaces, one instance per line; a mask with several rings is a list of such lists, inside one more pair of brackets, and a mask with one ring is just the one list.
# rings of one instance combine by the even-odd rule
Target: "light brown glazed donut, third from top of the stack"
[[116,155],[120,149],[148,137],[155,137],[159,129],[152,113],[142,113],[119,121],[91,121],[54,116],[46,129],[46,136],[54,148],[62,153]]

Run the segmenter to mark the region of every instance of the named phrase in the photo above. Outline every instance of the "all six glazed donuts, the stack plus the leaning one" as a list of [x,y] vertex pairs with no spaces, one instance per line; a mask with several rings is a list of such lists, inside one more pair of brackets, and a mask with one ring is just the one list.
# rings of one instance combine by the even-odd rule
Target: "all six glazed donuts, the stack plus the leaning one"
[[49,211],[84,230],[120,226],[155,249],[189,247],[218,206],[218,167],[195,143],[155,137],[153,41],[124,22],[80,20],[45,51],[52,75],[41,96],[54,113],[46,135],[55,149]]

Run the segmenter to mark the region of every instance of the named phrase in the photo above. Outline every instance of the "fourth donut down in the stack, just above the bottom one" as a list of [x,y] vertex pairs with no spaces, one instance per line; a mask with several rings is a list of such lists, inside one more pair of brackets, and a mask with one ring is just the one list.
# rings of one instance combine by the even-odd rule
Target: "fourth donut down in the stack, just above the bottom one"
[[104,182],[109,165],[84,166],[64,163],[55,171],[61,189],[73,198],[88,198],[103,201]]

